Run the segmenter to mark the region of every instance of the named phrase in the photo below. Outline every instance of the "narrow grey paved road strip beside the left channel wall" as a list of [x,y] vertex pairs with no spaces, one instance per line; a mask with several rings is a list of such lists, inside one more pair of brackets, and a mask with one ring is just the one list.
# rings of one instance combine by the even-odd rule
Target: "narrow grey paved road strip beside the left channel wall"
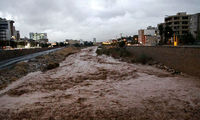
[[0,62],[0,69],[5,68],[5,67],[10,66],[10,65],[13,65],[13,64],[20,62],[20,61],[30,60],[30,59],[35,58],[37,56],[48,54],[50,52],[54,52],[54,51],[57,51],[57,50],[60,50],[60,49],[62,49],[62,48],[55,48],[55,49],[51,49],[51,50],[46,50],[46,51],[42,51],[42,52],[37,52],[37,53],[33,53],[33,54],[29,54],[29,55],[20,56],[20,57],[11,58],[11,59],[8,59],[8,60],[1,61]]

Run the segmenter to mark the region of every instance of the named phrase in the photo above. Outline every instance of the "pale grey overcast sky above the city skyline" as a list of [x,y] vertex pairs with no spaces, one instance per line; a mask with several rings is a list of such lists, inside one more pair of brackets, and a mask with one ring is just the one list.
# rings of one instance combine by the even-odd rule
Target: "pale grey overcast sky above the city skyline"
[[157,26],[165,15],[200,12],[200,0],[0,0],[0,17],[15,21],[21,37],[46,32],[50,41],[104,41]]

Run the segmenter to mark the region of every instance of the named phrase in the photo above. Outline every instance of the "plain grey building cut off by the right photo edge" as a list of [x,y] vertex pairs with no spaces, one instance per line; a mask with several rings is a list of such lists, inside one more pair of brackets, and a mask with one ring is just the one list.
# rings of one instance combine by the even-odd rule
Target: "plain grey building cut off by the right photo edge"
[[189,30],[196,42],[200,44],[200,13],[191,15]]

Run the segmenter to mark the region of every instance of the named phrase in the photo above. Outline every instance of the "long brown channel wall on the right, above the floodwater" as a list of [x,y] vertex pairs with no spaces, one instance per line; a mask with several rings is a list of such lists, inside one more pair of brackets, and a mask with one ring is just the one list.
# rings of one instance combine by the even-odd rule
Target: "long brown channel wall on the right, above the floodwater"
[[199,47],[136,46],[127,50],[136,57],[145,54],[166,66],[200,77]]

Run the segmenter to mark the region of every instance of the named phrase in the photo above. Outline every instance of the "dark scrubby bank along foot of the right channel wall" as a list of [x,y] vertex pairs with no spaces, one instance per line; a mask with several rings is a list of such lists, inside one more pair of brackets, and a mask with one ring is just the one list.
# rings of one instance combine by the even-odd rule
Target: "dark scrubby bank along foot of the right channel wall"
[[171,68],[169,66],[166,66],[165,64],[163,64],[161,62],[155,61],[153,58],[151,58],[145,54],[136,56],[135,54],[128,51],[126,48],[101,46],[101,47],[98,47],[96,53],[98,55],[105,54],[108,56],[112,56],[116,59],[119,59],[121,61],[128,62],[128,63],[132,63],[132,64],[150,65],[150,66],[165,70],[165,71],[171,73],[172,75],[182,74],[180,71],[178,71],[174,68]]

